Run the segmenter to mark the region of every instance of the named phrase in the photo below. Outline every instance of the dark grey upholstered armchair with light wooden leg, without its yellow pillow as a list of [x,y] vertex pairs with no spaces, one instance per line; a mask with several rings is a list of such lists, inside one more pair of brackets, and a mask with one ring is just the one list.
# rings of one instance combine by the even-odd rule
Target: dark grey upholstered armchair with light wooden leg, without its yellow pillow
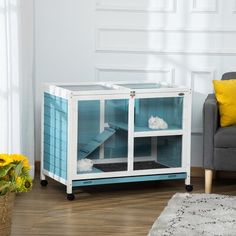
[[[223,74],[225,79],[236,79],[236,72]],[[206,193],[211,193],[214,170],[236,171],[236,126],[220,127],[214,94],[207,96],[203,106],[203,167]]]

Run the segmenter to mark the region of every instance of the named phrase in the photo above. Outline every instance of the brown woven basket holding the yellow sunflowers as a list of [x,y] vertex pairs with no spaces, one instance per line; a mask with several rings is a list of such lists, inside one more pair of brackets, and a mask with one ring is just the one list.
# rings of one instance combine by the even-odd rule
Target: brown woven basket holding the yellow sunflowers
[[0,235],[11,235],[11,219],[14,206],[15,193],[0,196]]

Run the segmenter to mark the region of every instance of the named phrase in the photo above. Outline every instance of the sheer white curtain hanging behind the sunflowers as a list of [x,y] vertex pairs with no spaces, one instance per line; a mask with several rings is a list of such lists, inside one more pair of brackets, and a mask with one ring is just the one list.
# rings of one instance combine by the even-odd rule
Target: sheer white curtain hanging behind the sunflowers
[[34,173],[33,0],[0,0],[0,153]]

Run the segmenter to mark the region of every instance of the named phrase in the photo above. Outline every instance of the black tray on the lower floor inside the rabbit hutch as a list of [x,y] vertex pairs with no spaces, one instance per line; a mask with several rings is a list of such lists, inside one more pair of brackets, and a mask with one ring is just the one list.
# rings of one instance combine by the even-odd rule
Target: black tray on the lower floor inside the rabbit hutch
[[[104,172],[113,172],[113,171],[126,171],[127,163],[106,163],[106,164],[95,164],[95,168],[104,171]],[[148,170],[148,169],[160,169],[168,168],[167,166],[161,165],[155,161],[139,161],[134,162],[134,170]]]

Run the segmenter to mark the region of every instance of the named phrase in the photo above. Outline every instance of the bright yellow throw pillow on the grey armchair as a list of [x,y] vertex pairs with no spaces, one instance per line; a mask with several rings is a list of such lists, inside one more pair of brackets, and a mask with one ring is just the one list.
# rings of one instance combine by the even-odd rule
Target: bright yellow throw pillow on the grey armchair
[[213,80],[221,127],[236,125],[236,79]]

